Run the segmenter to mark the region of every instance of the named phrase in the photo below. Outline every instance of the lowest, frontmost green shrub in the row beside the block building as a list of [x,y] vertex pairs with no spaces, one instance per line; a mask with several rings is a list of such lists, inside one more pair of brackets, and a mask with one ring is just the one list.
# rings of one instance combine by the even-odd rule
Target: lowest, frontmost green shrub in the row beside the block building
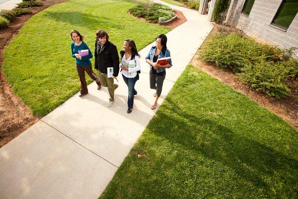
[[283,64],[263,60],[255,66],[248,65],[242,70],[241,80],[257,91],[276,98],[289,96],[290,89],[285,84],[287,70]]

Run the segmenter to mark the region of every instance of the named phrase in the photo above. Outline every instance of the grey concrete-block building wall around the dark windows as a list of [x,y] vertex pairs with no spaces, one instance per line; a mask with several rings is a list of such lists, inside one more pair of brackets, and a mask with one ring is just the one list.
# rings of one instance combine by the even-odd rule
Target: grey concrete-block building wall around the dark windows
[[[226,21],[234,22],[249,36],[281,47],[298,47],[298,14],[287,31],[270,25],[282,0],[255,0],[249,16],[241,10],[245,0],[231,0]],[[298,51],[295,51],[298,56]]]

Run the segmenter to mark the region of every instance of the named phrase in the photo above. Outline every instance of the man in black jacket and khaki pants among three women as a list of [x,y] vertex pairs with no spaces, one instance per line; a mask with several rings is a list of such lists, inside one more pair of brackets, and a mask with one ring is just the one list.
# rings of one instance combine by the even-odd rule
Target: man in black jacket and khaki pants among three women
[[[98,78],[100,83],[104,87],[108,87],[110,99],[108,106],[111,106],[114,102],[114,91],[118,88],[117,84],[114,84],[114,79],[119,73],[119,55],[117,47],[109,41],[108,33],[99,29],[96,32],[95,41],[95,69],[99,71]],[[108,68],[113,67],[113,75],[108,78]]]

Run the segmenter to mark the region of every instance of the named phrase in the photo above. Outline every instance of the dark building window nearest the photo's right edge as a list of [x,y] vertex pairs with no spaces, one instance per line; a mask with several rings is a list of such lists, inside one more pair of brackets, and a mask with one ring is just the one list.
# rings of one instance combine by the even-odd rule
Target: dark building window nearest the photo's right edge
[[298,11],[298,0],[283,0],[277,10],[272,24],[288,29]]

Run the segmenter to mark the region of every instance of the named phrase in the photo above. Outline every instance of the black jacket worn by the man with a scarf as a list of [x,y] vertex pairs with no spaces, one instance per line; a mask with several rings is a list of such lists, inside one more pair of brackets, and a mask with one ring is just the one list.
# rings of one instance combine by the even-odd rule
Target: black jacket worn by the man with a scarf
[[99,70],[101,73],[107,74],[107,68],[114,68],[114,77],[118,76],[119,73],[119,55],[117,52],[117,47],[110,41],[106,41],[103,45],[103,50],[100,52],[100,47],[95,41],[95,69]]

